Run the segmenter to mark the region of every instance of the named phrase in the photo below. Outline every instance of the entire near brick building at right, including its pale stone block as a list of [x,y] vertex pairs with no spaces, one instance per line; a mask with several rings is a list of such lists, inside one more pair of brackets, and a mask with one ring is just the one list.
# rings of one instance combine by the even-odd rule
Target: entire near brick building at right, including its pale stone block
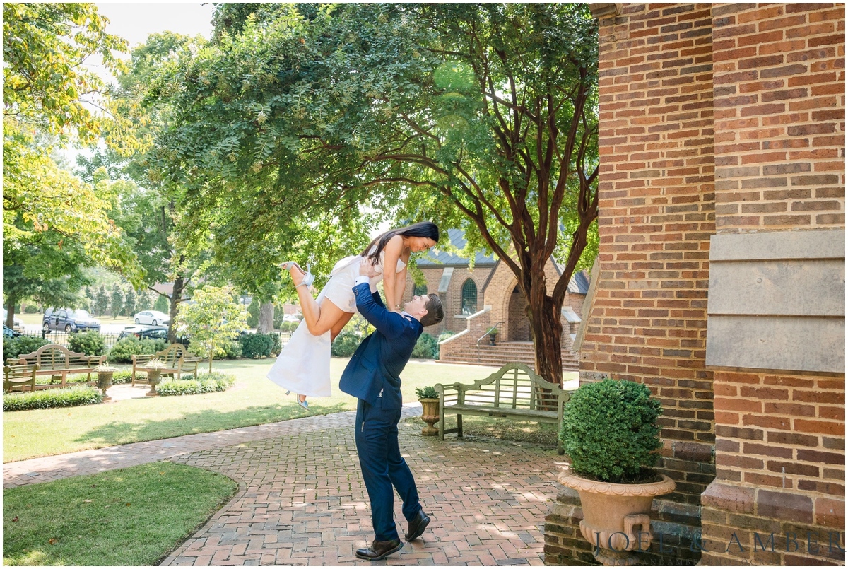
[[[663,404],[677,489],[644,562],[844,565],[845,5],[589,6],[600,254],[574,348],[582,383]],[[546,562],[594,561],[581,518],[562,492]]]

